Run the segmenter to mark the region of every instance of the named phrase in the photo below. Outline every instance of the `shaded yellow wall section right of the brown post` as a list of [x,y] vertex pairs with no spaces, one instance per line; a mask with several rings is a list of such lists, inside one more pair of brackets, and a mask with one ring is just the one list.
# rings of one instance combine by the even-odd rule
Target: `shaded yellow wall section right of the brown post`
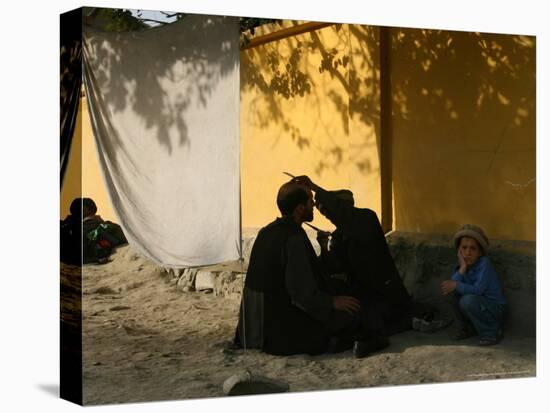
[[535,239],[535,39],[392,30],[395,228]]

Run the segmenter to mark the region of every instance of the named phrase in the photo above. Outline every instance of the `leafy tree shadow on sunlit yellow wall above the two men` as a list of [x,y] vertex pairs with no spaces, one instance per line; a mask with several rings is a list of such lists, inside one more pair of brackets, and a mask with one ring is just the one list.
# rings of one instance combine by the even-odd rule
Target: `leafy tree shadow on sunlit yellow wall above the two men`
[[[359,143],[355,139],[353,145],[348,145],[348,140],[342,139],[355,133],[350,126],[355,119],[373,128],[374,135],[379,136],[379,61],[378,55],[372,52],[378,35],[370,26],[355,30],[361,41],[353,48],[348,26],[335,24],[322,31],[308,32],[241,53],[241,91],[256,92],[249,108],[253,124],[260,129],[279,128],[279,141],[289,139],[300,150],[316,147],[321,153],[315,165],[319,175],[327,169],[338,170],[350,162],[363,174],[374,172],[370,157],[376,140],[365,137]],[[330,46],[325,44],[325,36],[333,38]],[[366,50],[361,59],[354,57],[361,53],[358,48]],[[312,105],[306,108],[308,129],[321,131],[330,141],[322,148],[315,146],[314,134],[304,132],[304,124],[293,120],[293,113],[284,108],[285,100],[304,98]],[[342,130],[343,137],[333,136],[323,113],[315,109],[327,101],[339,119],[332,120],[338,123],[332,125],[333,129]]]

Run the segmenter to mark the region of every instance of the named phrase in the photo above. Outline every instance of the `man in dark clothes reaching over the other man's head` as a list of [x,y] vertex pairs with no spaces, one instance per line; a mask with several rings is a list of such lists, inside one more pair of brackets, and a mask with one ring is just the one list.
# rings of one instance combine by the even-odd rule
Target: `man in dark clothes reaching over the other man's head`
[[347,293],[366,307],[370,328],[386,335],[411,328],[417,309],[403,285],[376,213],[355,207],[351,191],[326,191],[307,176],[297,177],[295,182],[315,191],[317,208],[336,226],[330,251],[320,237],[321,262],[327,272],[348,276]]

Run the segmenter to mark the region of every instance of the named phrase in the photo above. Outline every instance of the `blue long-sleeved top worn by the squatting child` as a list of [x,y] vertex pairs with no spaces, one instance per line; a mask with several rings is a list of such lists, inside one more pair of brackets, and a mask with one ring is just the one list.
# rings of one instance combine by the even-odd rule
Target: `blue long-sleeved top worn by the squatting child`
[[506,304],[497,273],[486,256],[479,257],[464,275],[457,269],[451,280],[457,282],[456,292],[460,295],[481,295],[499,304]]

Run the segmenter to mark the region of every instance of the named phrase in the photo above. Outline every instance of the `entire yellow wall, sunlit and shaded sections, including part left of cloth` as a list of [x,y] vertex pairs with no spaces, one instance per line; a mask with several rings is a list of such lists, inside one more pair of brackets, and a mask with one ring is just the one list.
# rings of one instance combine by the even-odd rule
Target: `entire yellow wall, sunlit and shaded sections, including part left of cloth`
[[[297,25],[285,21],[283,27]],[[280,30],[258,30],[259,35]],[[257,33],[258,35],[258,33]],[[379,30],[333,25],[241,52],[243,227],[279,215],[282,171],[380,215]],[[394,229],[535,239],[535,39],[391,29]],[[116,221],[82,101],[82,191]],[[80,196],[79,132],[61,217]],[[314,225],[331,225],[316,213]]]

